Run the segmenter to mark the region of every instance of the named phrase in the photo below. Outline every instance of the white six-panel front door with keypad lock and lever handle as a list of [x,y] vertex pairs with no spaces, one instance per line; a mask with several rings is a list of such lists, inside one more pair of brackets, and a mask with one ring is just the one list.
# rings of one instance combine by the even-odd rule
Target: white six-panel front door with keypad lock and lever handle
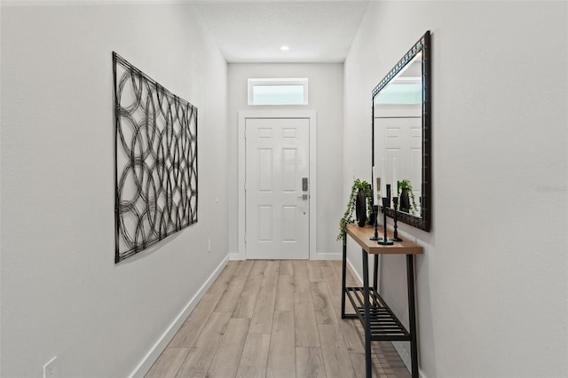
[[310,119],[247,118],[247,259],[310,257]]

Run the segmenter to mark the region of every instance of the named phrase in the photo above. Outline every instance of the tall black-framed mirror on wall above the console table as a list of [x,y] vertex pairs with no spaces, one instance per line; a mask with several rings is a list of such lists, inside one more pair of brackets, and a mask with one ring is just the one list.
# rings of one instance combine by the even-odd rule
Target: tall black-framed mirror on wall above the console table
[[[431,219],[430,64],[430,31],[426,31],[372,92],[374,203],[382,203],[379,197],[398,197],[398,221],[427,232]],[[385,209],[389,217],[394,215],[393,207],[394,201]]]

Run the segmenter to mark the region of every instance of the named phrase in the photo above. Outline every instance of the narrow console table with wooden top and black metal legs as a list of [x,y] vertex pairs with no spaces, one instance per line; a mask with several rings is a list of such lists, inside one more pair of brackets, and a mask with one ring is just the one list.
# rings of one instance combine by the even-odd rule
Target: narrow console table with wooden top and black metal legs
[[[416,311],[414,299],[414,255],[422,254],[423,248],[412,241],[396,241],[394,245],[382,246],[369,240],[375,234],[375,227],[347,226],[347,235],[362,248],[363,287],[346,287],[345,274],[347,264],[347,235],[343,235],[343,272],[342,272],[342,319],[359,318],[365,330],[366,376],[373,375],[371,360],[371,341],[407,341],[410,342],[412,376],[418,378],[418,346],[416,344]],[[379,227],[379,237],[383,230]],[[392,237],[389,232],[388,237]],[[377,291],[378,255],[406,255],[406,282],[408,289],[408,319],[410,330],[402,325],[390,310],[383,297]],[[368,256],[375,255],[373,286],[369,287]],[[348,297],[356,313],[345,313],[345,297]]]

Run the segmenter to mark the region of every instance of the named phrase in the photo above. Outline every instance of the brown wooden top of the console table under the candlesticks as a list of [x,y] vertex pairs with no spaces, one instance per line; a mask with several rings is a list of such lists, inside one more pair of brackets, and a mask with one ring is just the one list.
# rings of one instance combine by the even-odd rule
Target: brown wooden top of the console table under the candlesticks
[[[383,238],[383,226],[378,227],[378,232],[379,238]],[[420,255],[424,253],[424,248],[413,241],[395,241],[391,246],[382,246],[377,244],[376,240],[369,240],[370,237],[375,235],[374,226],[359,227],[357,224],[349,224],[347,226],[347,234],[357,241],[357,244],[365,249],[368,254]],[[387,238],[392,238],[392,232],[388,229]]]

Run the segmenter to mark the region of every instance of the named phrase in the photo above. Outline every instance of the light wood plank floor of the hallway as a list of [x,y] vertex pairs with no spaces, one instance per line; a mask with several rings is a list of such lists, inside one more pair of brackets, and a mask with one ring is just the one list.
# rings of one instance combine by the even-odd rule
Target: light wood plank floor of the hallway
[[[374,376],[410,376],[388,342],[373,343],[373,364]],[[341,319],[341,262],[305,260],[229,262],[146,374],[364,376],[359,320]]]

